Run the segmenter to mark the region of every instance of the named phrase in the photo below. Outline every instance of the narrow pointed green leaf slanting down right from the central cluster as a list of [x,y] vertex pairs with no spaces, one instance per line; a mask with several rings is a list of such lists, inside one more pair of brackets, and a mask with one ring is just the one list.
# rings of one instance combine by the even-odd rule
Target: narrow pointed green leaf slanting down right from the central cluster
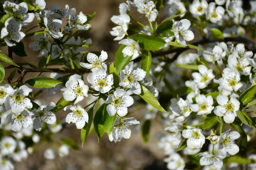
[[141,93],[139,94],[139,96],[144,99],[146,102],[148,102],[149,104],[151,104],[151,106],[153,106],[155,109],[165,112],[165,113],[169,113],[168,111],[166,111],[158,102],[158,100],[155,98],[154,94],[152,94],[146,87],[144,87],[143,85],[141,85]]

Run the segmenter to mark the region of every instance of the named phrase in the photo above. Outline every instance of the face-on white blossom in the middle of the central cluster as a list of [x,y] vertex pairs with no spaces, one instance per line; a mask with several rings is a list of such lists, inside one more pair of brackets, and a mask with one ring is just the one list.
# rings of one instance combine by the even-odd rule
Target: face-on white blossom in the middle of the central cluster
[[111,86],[114,84],[113,75],[107,76],[104,69],[98,69],[87,76],[88,82],[91,84],[91,88],[101,93],[107,93],[111,90]]

